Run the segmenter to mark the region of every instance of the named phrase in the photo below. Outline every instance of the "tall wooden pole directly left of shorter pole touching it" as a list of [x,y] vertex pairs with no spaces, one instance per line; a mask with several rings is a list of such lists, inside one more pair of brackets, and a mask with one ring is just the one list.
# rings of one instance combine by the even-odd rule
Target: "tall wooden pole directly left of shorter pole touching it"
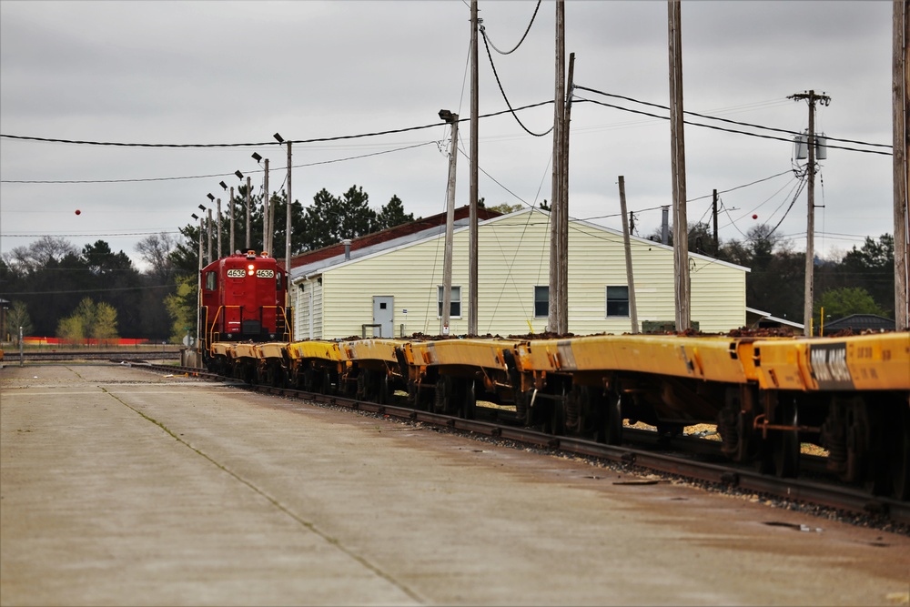
[[[550,301],[547,328],[554,333],[561,333],[562,317],[566,310],[562,308],[560,258],[565,255],[561,250],[562,234],[562,128],[565,117],[565,3],[556,2],[556,90],[553,95],[553,177],[552,200],[550,203]],[[568,323],[566,323],[568,326]]]

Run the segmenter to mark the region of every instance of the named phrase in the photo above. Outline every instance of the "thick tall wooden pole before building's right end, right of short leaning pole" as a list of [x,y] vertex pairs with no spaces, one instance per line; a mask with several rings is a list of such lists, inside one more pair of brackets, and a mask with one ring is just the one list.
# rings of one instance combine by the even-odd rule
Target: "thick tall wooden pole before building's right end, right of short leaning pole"
[[682,16],[680,0],[668,0],[670,38],[670,147],[673,182],[673,266],[676,330],[691,326],[689,316],[689,238],[685,207],[685,139],[682,113]]

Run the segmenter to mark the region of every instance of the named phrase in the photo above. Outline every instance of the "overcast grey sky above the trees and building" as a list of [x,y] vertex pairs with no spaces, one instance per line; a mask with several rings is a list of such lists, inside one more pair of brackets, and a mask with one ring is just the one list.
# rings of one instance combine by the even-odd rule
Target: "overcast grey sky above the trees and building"
[[[535,6],[481,0],[480,17],[493,46],[515,46]],[[787,96],[814,89],[831,97],[830,106],[816,113],[819,132],[889,146],[891,18],[887,1],[685,0],[684,107],[802,131],[808,106]],[[304,141],[432,125],[295,144],[292,195],[308,206],[322,188],[340,195],[356,184],[377,209],[397,195],[415,217],[440,213],[449,129],[438,112],[448,108],[470,116],[469,19],[470,5],[456,0],[2,0],[4,136],[262,145],[100,147],[3,137],[0,249],[44,235],[66,238],[77,248],[104,239],[138,260],[136,242],[159,232],[177,236],[178,228],[193,222],[197,205],[208,203],[208,193],[227,198],[218,182],[238,185],[236,170],[261,187],[253,152],[270,158],[270,189],[280,189],[287,157],[286,148],[273,143],[275,132]],[[552,99],[554,38],[555,4],[544,2],[518,50],[500,55],[490,49],[511,106]],[[575,53],[576,85],[669,104],[666,2],[567,2],[565,46],[567,59]],[[507,109],[482,38],[479,95],[481,115]],[[622,175],[628,206],[637,211],[637,232],[647,237],[659,229],[660,207],[672,204],[669,122],[593,101],[667,113],[589,90],[576,90],[571,110],[571,217],[621,228]],[[542,133],[552,124],[552,106],[519,117]],[[467,122],[460,140],[467,153]],[[894,232],[890,147],[835,145],[887,154],[829,150],[816,177],[816,204],[824,208],[815,215],[815,247],[827,255],[861,246],[866,236]],[[551,198],[551,137],[529,135],[507,113],[480,120],[479,147],[480,197],[488,206],[537,205]],[[761,223],[780,223],[775,234],[804,250],[806,195],[791,206],[797,183],[791,143],[687,125],[685,151],[690,223],[710,221],[716,188],[724,208],[722,240],[743,239]],[[468,169],[468,158],[460,156],[459,205],[468,201]]]

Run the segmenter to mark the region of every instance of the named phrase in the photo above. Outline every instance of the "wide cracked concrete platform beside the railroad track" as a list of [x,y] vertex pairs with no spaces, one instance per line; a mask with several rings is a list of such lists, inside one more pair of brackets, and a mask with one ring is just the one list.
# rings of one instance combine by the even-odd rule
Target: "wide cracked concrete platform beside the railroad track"
[[7,366],[0,431],[3,605],[895,605],[910,591],[902,535],[193,378]]

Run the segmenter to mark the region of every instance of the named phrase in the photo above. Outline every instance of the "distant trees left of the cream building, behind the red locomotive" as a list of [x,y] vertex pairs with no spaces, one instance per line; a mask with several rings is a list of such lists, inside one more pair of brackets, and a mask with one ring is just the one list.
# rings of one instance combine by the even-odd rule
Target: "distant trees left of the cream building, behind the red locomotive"
[[[230,245],[230,211],[234,207],[235,249],[247,241],[246,187],[222,208],[222,255]],[[250,196],[250,246],[262,247],[263,196]],[[284,258],[287,194],[272,194],[275,207],[274,254]],[[292,254],[326,247],[344,238],[357,238],[413,221],[397,196],[375,210],[362,187],[352,186],[341,196],[321,189],[306,209],[295,200],[291,206]],[[217,230],[217,217],[213,230]],[[206,228],[207,229],[207,228]],[[143,239],[136,252],[146,262],[139,271],[123,251],[114,252],[104,240],[77,249],[65,238],[43,237],[16,247],[0,259],[0,298],[11,303],[6,310],[6,333],[65,339],[130,337],[174,341],[195,334],[199,225],[179,228],[179,237],[154,234]],[[207,247],[207,231],[202,232]],[[217,232],[212,248],[216,248]],[[213,250],[217,258],[217,251]],[[191,328],[191,329],[187,329]],[[7,335],[0,336],[0,340]]]

